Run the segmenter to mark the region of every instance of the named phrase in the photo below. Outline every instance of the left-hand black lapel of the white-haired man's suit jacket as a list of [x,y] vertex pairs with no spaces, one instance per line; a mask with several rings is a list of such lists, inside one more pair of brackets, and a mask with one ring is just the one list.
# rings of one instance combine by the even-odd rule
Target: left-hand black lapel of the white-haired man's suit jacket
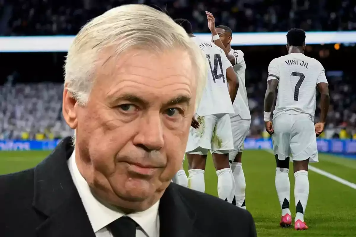
[[65,138],[35,168],[33,207],[48,217],[36,228],[39,237],[95,237],[68,169],[72,152]]

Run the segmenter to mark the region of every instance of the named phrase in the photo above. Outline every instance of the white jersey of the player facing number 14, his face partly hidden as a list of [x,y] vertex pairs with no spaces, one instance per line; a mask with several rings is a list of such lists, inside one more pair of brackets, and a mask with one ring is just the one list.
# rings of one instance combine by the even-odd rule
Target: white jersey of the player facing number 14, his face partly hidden
[[230,53],[235,56],[234,71],[239,79],[239,90],[233,103],[235,114],[239,114],[242,119],[251,119],[250,108],[245,84],[246,63],[244,53],[241,50],[230,49]]

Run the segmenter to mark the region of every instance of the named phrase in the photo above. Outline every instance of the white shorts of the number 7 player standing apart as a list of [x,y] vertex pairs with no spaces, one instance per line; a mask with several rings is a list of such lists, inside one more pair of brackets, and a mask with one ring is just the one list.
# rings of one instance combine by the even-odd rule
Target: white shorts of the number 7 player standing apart
[[273,118],[272,144],[279,160],[318,162],[315,126],[309,114],[283,113]]

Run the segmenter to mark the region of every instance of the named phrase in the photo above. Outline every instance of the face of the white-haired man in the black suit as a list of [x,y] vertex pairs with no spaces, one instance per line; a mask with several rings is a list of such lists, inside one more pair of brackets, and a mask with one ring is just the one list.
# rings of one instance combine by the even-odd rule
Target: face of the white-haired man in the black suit
[[182,165],[194,75],[182,50],[129,50],[98,67],[86,106],[64,92],[64,117],[77,131],[77,165],[94,194],[127,210],[161,198]]

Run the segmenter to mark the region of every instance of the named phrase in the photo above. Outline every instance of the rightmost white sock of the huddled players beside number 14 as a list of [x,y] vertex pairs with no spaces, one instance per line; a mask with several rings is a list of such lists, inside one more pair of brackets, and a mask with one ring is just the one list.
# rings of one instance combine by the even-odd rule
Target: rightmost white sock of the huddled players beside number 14
[[235,200],[236,206],[246,209],[246,206],[242,206],[245,202],[245,190],[246,190],[246,181],[244,170],[242,169],[242,163],[232,163],[231,165],[232,174],[235,180]]

